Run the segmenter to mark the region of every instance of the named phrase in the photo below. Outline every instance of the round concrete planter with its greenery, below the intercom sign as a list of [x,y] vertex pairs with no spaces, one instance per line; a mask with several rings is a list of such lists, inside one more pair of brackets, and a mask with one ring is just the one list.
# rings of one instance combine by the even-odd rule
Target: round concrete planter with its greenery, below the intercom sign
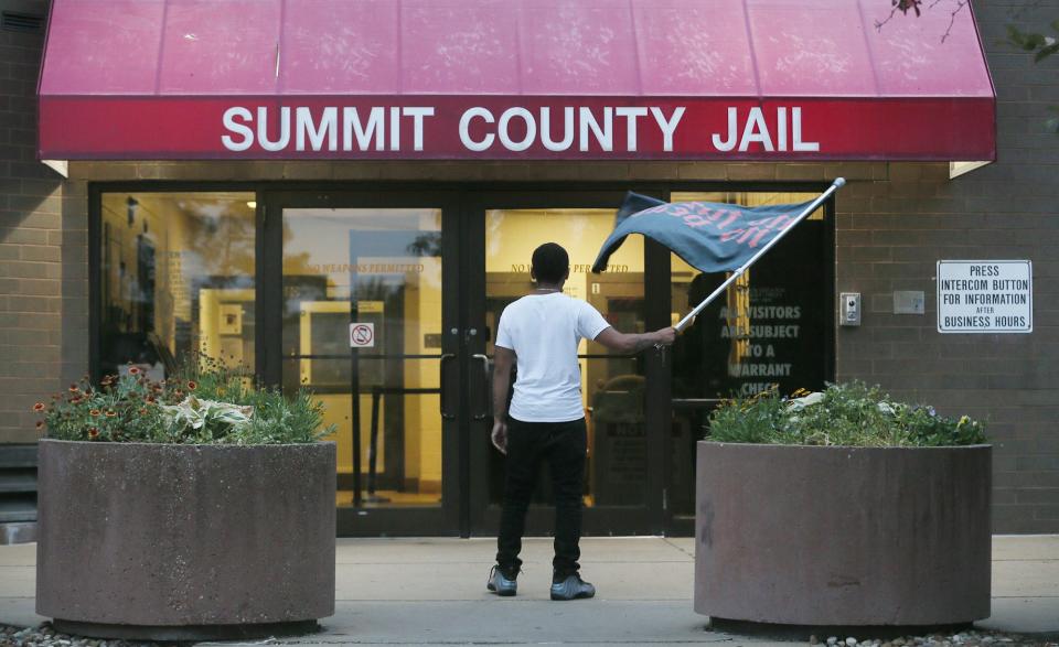
[[992,447],[863,382],[732,399],[696,447],[695,610],[812,626],[990,615]]

